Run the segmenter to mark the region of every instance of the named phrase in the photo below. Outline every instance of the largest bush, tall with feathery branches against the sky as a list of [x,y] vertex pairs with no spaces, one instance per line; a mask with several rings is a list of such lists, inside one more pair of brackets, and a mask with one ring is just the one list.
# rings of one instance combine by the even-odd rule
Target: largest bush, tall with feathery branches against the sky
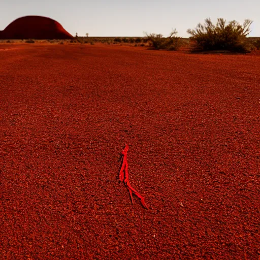
[[196,49],[250,52],[251,45],[246,41],[246,36],[250,33],[251,24],[249,19],[241,25],[237,21],[226,24],[226,20],[218,18],[214,25],[207,18],[204,25],[199,23],[196,29],[188,29],[187,32],[191,35],[190,40],[196,42]]

